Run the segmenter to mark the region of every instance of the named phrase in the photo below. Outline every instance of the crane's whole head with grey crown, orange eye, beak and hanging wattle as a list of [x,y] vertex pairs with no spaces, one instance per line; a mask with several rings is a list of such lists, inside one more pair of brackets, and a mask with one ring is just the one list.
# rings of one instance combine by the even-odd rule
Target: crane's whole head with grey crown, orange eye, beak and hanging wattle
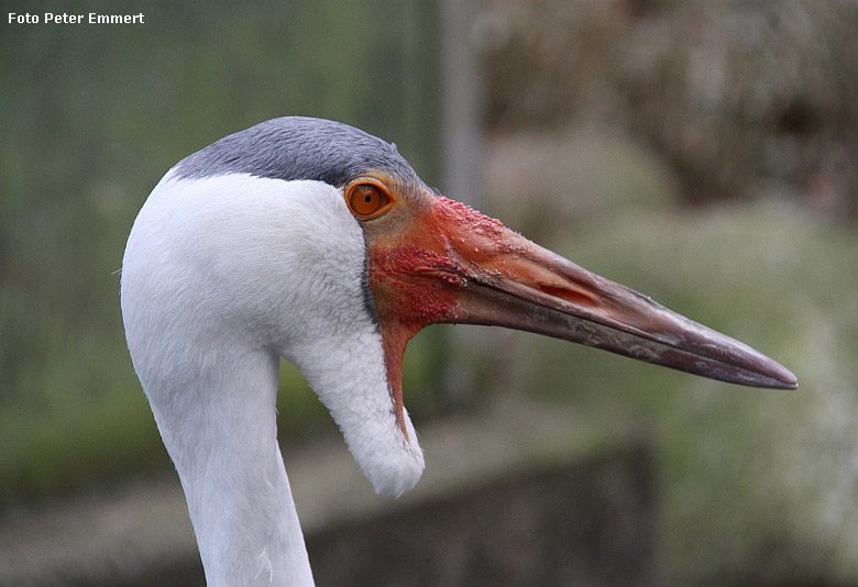
[[422,472],[402,363],[432,323],[505,326],[734,384],[798,387],[751,347],[441,196],[394,145],[318,119],[267,121],[177,164],[132,229],[122,307],[162,431],[170,419],[180,428],[187,398],[177,396],[194,380],[228,386],[241,365],[285,356],[376,490],[392,495]]

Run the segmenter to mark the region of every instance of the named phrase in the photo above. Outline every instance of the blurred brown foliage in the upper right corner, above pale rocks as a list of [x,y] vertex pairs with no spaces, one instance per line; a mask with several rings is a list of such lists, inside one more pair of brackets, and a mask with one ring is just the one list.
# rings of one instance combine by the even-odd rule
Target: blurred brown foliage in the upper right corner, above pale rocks
[[488,124],[624,129],[691,202],[768,191],[858,218],[858,4],[487,0]]

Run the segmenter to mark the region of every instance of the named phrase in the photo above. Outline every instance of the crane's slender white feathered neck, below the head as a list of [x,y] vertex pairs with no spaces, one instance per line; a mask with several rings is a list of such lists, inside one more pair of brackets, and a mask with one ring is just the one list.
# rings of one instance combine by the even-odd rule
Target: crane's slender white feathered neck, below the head
[[312,585],[276,430],[278,357],[218,356],[152,392],[210,586]]

